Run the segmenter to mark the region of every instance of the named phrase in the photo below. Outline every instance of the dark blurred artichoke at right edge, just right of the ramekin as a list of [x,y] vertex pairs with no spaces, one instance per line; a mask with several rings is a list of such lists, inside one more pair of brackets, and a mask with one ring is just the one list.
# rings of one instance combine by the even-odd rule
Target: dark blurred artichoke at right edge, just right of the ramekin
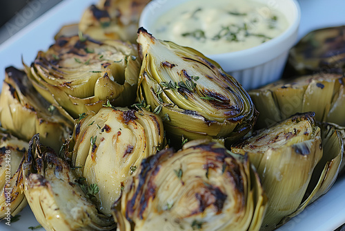
[[345,72],[345,26],[308,33],[290,50],[288,72],[292,75]]

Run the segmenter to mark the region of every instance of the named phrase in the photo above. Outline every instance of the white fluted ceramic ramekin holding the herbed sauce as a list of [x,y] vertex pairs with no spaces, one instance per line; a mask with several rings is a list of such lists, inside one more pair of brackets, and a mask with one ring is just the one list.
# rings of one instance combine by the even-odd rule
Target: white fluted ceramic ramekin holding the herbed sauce
[[[152,26],[161,15],[189,0],[153,0],[141,13],[139,26],[151,33]],[[216,0],[215,0],[216,1]],[[268,9],[281,12],[288,28],[281,35],[264,44],[232,53],[206,55],[215,60],[227,73],[233,75],[245,89],[255,89],[278,80],[288,57],[288,50],[297,40],[301,12],[295,0],[251,0],[264,3]],[[155,36],[153,34],[153,36]]]

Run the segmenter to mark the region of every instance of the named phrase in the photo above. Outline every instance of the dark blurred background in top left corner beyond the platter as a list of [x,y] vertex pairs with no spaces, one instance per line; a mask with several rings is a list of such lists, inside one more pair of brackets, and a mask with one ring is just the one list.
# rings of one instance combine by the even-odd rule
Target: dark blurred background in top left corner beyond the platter
[[1,1],[0,44],[61,1],[63,0]]

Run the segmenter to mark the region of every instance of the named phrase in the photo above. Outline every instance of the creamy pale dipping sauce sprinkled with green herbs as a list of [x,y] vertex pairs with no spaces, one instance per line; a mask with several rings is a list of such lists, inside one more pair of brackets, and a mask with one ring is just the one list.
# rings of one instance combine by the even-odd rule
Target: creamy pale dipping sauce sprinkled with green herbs
[[282,13],[257,1],[193,0],[159,17],[152,35],[214,55],[258,46],[287,28]]

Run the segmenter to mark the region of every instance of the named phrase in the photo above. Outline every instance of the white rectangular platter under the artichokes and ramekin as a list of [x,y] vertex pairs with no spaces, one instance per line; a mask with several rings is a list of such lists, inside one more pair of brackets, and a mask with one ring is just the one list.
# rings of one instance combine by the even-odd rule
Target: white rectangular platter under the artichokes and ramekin
[[[53,43],[53,37],[61,26],[77,23],[81,19],[83,10],[96,2],[97,0],[64,0],[1,44],[0,86],[7,66],[21,68],[22,56],[24,61],[30,64],[39,50],[46,50]],[[299,3],[302,10],[299,38],[317,28],[345,25],[344,0],[300,0]],[[5,224],[6,221],[0,221],[0,230],[23,231],[28,230],[30,226],[39,225],[30,207],[26,207],[20,215],[19,221],[11,223],[10,226]],[[278,230],[335,230],[343,223],[345,223],[345,176],[339,177],[326,195],[306,207],[304,212]]]

